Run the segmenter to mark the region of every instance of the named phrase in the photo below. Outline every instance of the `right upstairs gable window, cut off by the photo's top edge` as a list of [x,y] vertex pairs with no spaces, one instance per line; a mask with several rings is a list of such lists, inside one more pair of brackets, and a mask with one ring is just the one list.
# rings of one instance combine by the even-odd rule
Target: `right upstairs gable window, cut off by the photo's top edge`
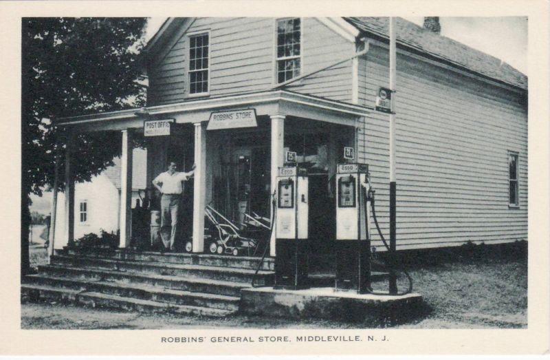
[[277,83],[300,75],[300,19],[277,21]]

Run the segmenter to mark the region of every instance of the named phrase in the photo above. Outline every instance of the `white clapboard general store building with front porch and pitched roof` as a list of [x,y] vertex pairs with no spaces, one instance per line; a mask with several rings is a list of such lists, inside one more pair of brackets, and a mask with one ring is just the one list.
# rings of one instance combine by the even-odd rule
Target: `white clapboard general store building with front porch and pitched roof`
[[[397,19],[397,250],[527,240],[527,76],[426,19]],[[144,131],[155,135],[145,136],[148,186],[170,159],[197,165],[183,222],[194,253],[206,251],[207,205],[236,224],[243,212],[270,217],[286,151],[308,169],[315,248],[331,251],[344,147],[369,165],[389,237],[388,114],[375,110],[388,86],[387,18],[170,18],[143,56],[146,107],[55,120],[122,137],[120,201],[109,215],[120,248],[132,238],[131,139]],[[56,248],[77,236],[75,213]]]

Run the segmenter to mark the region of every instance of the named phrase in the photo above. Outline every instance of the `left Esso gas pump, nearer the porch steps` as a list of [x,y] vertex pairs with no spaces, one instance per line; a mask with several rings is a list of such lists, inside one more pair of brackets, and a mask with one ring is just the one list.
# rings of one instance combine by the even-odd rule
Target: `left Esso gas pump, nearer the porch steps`
[[307,285],[308,178],[306,169],[279,167],[276,187],[275,288]]

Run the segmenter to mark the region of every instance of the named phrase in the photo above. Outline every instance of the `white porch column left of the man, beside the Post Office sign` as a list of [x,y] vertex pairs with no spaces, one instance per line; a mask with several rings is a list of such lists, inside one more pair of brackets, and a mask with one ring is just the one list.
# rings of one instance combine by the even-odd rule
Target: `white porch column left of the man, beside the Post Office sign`
[[122,130],[119,248],[126,248],[132,240],[132,153],[132,133],[129,129]]

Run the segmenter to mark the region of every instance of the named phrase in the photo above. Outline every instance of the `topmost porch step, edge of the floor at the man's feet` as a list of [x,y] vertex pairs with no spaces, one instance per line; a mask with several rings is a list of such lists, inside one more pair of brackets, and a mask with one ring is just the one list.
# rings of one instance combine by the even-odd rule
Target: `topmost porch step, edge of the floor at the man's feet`
[[[144,262],[169,263],[169,264],[194,264],[204,266],[221,266],[224,268],[248,268],[256,270],[261,261],[261,257],[252,256],[233,256],[233,255],[217,255],[217,254],[194,254],[194,253],[164,253],[161,254],[155,251],[133,251],[133,250],[116,250],[116,251],[67,251],[58,252],[58,255],[77,255],[88,257],[101,257],[104,259],[117,258],[120,260],[135,260]],[[261,264],[260,270],[274,271],[275,260],[272,257],[265,257]]]

